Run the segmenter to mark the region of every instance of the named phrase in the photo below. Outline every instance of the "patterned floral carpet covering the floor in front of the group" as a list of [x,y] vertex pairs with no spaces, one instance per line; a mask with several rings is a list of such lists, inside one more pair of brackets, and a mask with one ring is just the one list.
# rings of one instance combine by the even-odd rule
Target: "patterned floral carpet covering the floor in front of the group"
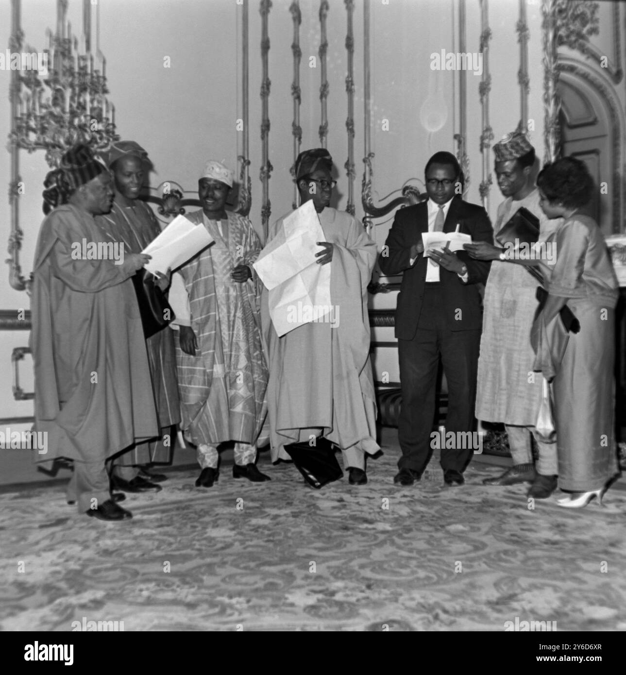
[[385,450],[364,487],[314,491],[267,453],[261,485],[230,465],[205,490],[197,470],[172,472],[161,493],[129,495],[120,524],[78,515],[59,486],[1,494],[0,628],[626,630],[623,484],[604,508],[553,496],[530,510],[525,486],[481,485],[502,469],[479,462],[464,487],[444,487],[436,458],[396,487]]

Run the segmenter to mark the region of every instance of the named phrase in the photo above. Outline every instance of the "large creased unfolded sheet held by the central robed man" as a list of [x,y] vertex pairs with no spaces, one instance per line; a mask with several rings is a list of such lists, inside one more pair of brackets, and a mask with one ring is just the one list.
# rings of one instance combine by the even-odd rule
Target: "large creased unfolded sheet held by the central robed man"
[[325,235],[312,201],[288,215],[263,248],[255,270],[269,290],[269,315],[279,337],[332,313],[330,265],[315,254]]

